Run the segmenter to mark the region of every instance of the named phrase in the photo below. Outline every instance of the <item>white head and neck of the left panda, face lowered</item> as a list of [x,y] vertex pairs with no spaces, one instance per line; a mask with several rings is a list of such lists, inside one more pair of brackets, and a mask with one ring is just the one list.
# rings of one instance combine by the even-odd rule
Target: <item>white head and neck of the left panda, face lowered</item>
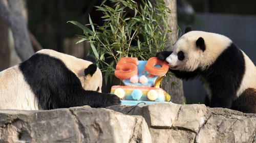
[[95,65],[96,59],[94,56],[89,55],[82,60],[50,49],[43,49],[37,53],[48,54],[61,60],[79,78],[84,90],[101,92],[102,74]]

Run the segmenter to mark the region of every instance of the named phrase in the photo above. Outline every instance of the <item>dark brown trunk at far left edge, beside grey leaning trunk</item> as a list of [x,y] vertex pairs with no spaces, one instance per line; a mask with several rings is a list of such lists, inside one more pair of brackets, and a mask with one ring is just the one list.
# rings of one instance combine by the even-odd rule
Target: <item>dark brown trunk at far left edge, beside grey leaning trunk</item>
[[0,18],[0,71],[9,68],[10,48],[8,45],[8,26]]

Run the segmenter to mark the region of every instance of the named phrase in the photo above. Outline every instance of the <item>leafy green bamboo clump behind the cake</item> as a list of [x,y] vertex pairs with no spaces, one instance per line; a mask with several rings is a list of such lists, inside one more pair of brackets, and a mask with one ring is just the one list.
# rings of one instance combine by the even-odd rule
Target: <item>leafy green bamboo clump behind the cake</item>
[[[152,5],[147,0],[142,0],[142,5],[133,0],[108,1],[115,3],[114,8],[104,5],[106,0],[101,6],[96,6],[104,14],[101,17],[104,21],[102,26],[94,24],[90,16],[90,24],[87,25],[91,26],[91,30],[77,21],[68,21],[83,30],[84,35],[78,35],[81,40],[77,43],[86,40],[90,43],[89,54],[96,56],[102,72],[106,72],[105,82],[108,77],[112,80],[114,65],[122,57],[148,60],[157,52],[168,48],[165,44],[170,42],[169,36],[172,33],[168,25],[171,11],[162,0],[157,0],[157,5]],[[128,12],[125,10],[134,11],[134,16],[126,16]],[[114,61],[106,63],[105,58],[113,58]]]

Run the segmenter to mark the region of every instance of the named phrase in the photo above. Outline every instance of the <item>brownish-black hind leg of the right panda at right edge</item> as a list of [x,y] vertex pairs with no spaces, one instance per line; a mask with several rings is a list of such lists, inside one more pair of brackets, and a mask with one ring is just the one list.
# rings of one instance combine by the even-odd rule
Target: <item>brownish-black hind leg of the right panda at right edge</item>
[[231,109],[244,113],[256,113],[256,90],[253,88],[246,89],[232,102]]

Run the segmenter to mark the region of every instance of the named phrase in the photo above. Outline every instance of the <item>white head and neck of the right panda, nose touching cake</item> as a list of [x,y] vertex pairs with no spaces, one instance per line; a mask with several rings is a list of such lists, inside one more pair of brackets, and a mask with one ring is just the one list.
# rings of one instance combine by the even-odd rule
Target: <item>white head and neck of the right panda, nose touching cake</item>
[[166,62],[173,70],[189,72],[205,69],[216,61],[231,42],[223,35],[191,31],[191,27],[186,27],[185,34],[176,42]]

